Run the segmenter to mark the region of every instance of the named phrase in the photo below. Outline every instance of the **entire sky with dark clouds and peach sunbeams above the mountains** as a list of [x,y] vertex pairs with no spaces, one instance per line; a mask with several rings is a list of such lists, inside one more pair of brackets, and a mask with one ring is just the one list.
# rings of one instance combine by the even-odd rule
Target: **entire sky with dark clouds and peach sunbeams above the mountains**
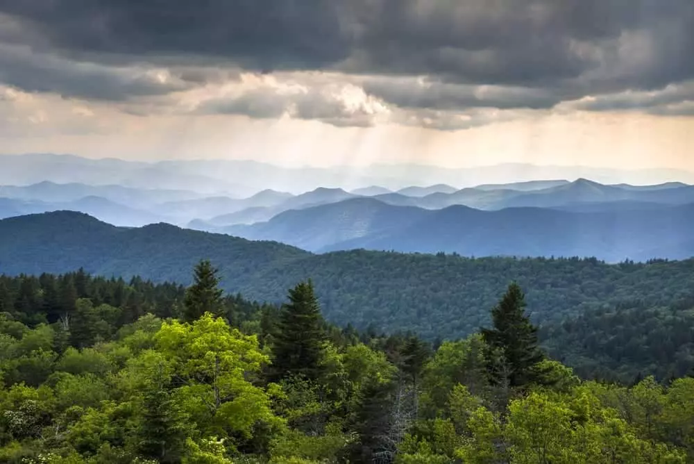
[[692,0],[0,0],[0,151],[694,170]]

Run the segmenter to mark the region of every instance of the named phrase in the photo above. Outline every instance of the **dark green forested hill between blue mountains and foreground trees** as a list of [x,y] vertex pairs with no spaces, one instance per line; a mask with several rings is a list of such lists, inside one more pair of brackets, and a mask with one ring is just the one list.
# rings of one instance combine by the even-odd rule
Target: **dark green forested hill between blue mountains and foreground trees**
[[312,278],[326,317],[337,324],[413,329],[454,337],[488,322],[511,280],[527,291],[537,322],[559,321],[622,301],[670,304],[691,295],[694,260],[607,265],[595,259],[463,258],[451,255],[340,251],[314,255],[277,242],[153,224],[125,229],[81,213],[0,220],[0,273],[60,273],[84,267],[105,276],[140,275],[189,283],[210,258],[223,288],[280,301]]

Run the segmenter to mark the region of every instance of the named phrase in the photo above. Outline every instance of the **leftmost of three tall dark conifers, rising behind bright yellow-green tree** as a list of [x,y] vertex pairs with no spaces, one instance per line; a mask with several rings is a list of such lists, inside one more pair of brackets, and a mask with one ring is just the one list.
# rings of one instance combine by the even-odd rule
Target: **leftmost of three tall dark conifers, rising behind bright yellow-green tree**
[[224,312],[222,290],[219,288],[217,269],[209,260],[201,260],[195,267],[195,282],[185,292],[183,319],[193,322],[205,313],[219,316]]

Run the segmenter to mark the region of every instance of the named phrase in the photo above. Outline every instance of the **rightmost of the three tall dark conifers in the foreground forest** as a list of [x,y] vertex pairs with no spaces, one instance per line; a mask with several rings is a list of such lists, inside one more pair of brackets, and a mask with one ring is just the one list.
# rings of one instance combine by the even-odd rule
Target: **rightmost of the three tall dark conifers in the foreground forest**
[[539,379],[537,364],[544,355],[537,342],[537,327],[525,314],[525,295],[513,282],[491,310],[493,329],[482,329],[482,337],[493,356],[488,370],[492,383],[507,382],[518,388]]

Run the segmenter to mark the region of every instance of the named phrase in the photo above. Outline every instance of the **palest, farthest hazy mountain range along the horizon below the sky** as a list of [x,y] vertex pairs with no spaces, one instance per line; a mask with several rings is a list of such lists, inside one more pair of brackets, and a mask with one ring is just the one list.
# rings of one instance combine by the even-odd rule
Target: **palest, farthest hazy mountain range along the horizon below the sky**
[[[206,196],[232,198],[250,197],[267,188],[298,194],[319,187],[351,191],[375,185],[395,192],[413,185],[426,188],[441,184],[459,189],[482,183],[508,184],[545,179],[573,181],[581,177],[605,184],[694,183],[694,172],[679,169],[607,169],[523,163],[468,168],[414,164],[281,167],[253,160],[143,162],[56,154],[0,156],[0,185],[30,185],[42,181],[117,184],[142,189],[192,190]],[[427,193],[430,191],[423,191],[423,194]],[[450,191],[444,190],[443,193]]]

